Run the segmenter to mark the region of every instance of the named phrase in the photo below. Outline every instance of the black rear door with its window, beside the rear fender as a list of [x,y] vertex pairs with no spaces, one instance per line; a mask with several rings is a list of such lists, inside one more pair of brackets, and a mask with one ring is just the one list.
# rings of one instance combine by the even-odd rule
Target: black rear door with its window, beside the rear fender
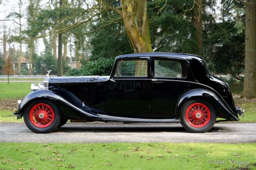
[[152,117],[175,118],[179,97],[189,89],[186,60],[152,57]]

